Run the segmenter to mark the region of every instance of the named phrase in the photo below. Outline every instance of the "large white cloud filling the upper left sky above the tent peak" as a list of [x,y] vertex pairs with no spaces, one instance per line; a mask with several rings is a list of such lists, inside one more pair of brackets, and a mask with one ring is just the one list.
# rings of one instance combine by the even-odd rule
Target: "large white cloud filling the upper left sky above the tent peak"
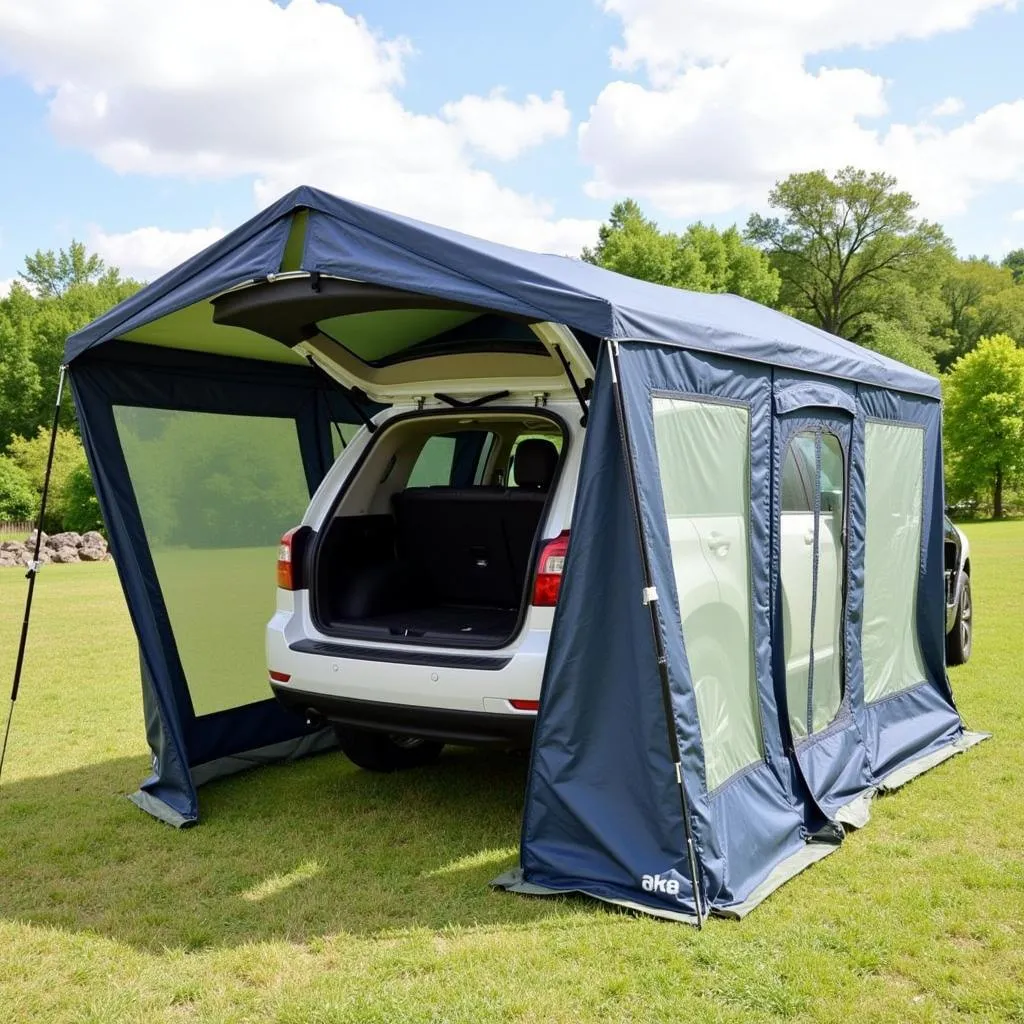
[[[473,163],[473,146],[506,157],[564,131],[563,98],[414,114],[396,95],[410,51],[323,0],[0,4],[0,63],[49,98],[57,138],[116,171],[252,176],[261,204],[314,184],[530,248],[592,241],[595,223],[558,219]],[[514,137],[481,126],[470,99]]]

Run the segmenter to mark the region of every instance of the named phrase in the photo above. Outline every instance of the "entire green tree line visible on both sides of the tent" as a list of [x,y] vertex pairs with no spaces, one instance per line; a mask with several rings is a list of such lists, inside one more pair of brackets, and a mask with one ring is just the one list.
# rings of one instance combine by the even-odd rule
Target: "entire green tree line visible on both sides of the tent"
[[[675,232],[627,199],[582,259],[674,288],[739,295],[938,375],[947,501],[995,516],[1024,511],[1024,249],[999,262],[961,258],[939,224],[916,216],[913,198],[894,178],[854,168],[791,175],[771,190],[768,207],[742,229],[698,222]],[[0,300],[0,521],[38,512],[68,336],[141,287],[75,241],[26,257],[19,276]],[[60,426],[46,528],[95,528],[99,510],[71,400]],[[167,429],[171,444],[184,428]],[[276,462],[285,472],[288,460]],[[208,463],[196,461],[195,480],[175,481],[185,493],[210,493],[203,514],[216,532],[214,518],[238,510],[213,500],[223,470],[199,478],[212,472]],[[273,489],[255,462],[251,470],[231,483],[250,504],[257,492]],[[165,543],[187,543],[161,523]],[[241,521],[221,526],[239,537],[257,529]]]

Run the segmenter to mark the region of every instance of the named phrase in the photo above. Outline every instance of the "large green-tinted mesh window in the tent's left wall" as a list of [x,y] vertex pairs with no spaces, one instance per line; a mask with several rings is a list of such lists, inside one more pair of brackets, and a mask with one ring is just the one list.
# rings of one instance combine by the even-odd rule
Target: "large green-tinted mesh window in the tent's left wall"
[[196,714],[267,699],[278,542],[309,503],[295,421],[114,418]]

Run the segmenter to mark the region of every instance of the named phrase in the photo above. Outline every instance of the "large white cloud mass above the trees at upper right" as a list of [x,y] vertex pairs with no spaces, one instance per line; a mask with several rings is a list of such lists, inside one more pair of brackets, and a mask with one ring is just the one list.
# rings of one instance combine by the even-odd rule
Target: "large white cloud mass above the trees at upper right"
[[884,79],[806,59],[828,46],[961,28],[986,7],[1011,6],[1004,0],[604,5],[624,19],[618,59],[646,63],[651,81],[609,83],[581,125],[591,196],[628,194],[677,216],[723,213],[762,205],[794,171],[852,164],[894,174],[923,214],[942,217],[989,185],[1024,181],[1024,99],[939,127],[931,117],[962,109],[949,97],[920,123],[886,123]]

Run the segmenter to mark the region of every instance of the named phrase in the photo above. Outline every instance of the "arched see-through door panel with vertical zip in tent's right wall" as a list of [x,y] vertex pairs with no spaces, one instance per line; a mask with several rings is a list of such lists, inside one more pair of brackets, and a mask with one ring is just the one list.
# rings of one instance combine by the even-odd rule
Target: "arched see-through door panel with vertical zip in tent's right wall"
[[785,703],[794,745],[836,721],[846,693],[844,620],[849,420],[787,425],[781,458],[779,577]]

